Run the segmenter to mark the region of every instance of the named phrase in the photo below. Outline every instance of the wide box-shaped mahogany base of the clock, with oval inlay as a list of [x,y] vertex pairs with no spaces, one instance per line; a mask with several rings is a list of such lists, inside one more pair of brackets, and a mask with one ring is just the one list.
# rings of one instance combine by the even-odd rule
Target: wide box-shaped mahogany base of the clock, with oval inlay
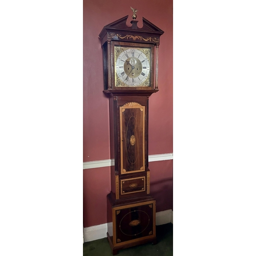
[[151,196],[116,201],[108,195],[108,233],[113,255],[119,249],[152,242],[156,239],[156,200]]

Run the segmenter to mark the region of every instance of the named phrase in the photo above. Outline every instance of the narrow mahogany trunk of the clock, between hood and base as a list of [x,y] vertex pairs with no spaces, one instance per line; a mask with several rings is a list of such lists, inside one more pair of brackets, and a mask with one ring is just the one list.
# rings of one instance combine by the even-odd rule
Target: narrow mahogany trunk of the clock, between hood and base
[[[139,95],[138,95],[139,94]],[[148,97],[110,93],[111,190],[116,199],[150,194]]]

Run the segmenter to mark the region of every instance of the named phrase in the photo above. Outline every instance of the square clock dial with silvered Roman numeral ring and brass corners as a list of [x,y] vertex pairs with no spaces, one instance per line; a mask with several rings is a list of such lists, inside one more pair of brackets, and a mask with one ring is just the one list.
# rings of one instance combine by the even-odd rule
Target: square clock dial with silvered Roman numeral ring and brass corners
[[115,47],[116,86],[150,86],[151,49]]

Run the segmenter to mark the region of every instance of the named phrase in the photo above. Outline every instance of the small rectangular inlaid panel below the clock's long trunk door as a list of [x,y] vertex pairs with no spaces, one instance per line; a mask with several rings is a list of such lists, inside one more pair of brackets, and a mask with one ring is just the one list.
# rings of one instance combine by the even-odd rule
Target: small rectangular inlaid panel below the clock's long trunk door
[[146,190],[145,176],[121,180],[121,195],[138,193],[145,190]]

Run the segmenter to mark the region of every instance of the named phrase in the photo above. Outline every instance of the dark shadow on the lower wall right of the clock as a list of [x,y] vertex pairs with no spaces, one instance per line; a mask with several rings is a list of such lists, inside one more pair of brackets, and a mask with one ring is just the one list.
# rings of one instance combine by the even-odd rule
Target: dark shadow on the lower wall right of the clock
[[156,199],[156,212],[173,210],[173,178],[150,183],[150,194]]

